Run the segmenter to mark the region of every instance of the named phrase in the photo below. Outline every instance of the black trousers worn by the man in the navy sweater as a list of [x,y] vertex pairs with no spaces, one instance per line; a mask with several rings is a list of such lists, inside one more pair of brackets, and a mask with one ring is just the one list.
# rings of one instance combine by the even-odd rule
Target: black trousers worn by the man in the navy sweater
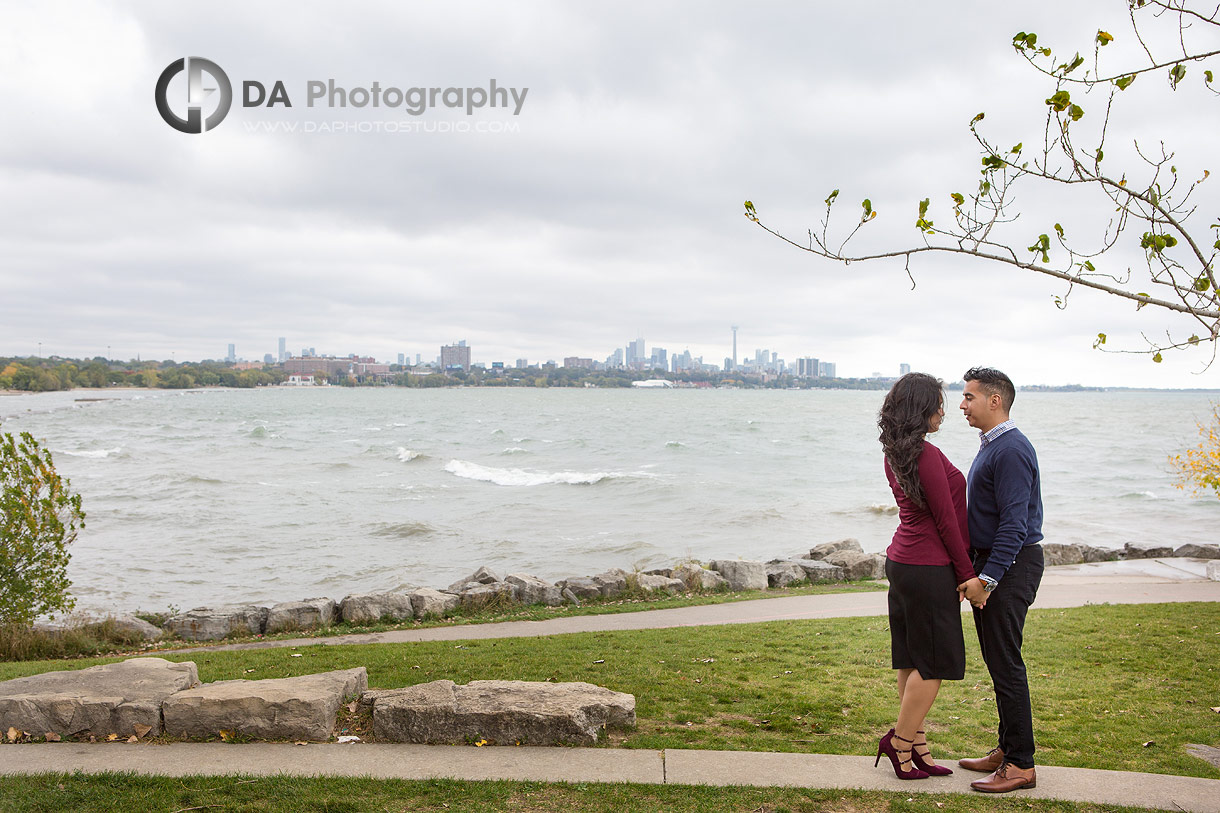
[[[987,564],[989,549],[971,548],[975,573]],[[1017,768],[1033,768],[1033,713],[1030,710],[1030,681],[1021,659],[1025,614],[1042,584],[1042,546],[1028,544],[1016,554],[983,609],[975,610],[975,631],[983,653],[996,706],[999,712],[999,747]]]

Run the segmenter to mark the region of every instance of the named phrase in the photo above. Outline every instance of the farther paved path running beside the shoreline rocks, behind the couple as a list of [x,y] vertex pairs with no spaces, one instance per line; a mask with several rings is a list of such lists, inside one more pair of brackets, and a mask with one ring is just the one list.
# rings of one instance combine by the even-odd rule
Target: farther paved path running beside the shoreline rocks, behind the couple
[[[1203,559],[1133,559],[1048,568],[1035,609],[1085,604],[1154,604],[1163,602],[1220,602],[1220,581],[1209,581]],[[963,604],[963,612],[969,605]],[[604,630],[651,630],[715,624],[755,624],[811,618],[884,615],[884,591],[784,596],[726,604],[640,610],[612,615],[576,615],[545,621],[460,624],[422,630],[393,630],[316,638],[289,638],[229,643],[200,649],[257,649],[264,647],[343,646],[349,643],[411,643],[416,641],[470,641],[516,638]]]

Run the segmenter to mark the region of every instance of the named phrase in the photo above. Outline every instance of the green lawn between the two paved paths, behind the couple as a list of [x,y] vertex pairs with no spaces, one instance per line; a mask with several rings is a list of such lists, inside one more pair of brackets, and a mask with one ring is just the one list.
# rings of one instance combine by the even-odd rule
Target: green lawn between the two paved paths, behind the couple
[[[994,745],[991,685],[966,641],[966,679],[944,684],[930,718],[938,756]],[[1041,764],[1220,776],[1183,751],[1220,745],[1210,710],[1220,701],[1220,604],[1033,610],[1025,656]],[[442,678],[583,680],[636,696],[638,728],[610,740],[627,748],[866,754],[897,714],[880,616],[162,657],[194,660],[204,681],[359,665],[381,688]],[[0,680],[112,660],[0,664]]]

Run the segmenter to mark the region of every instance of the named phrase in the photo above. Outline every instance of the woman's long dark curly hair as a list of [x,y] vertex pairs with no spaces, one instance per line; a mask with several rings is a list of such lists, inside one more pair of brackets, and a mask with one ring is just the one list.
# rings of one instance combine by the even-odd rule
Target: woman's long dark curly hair
[[881,448],[889,470],[906,497],[924,507],[924,488],[919,481],[919,458],[924,454],[924,436],[928,421],[944,405],[943,382],[925,372],[908,372],[894,382],[877,414]]

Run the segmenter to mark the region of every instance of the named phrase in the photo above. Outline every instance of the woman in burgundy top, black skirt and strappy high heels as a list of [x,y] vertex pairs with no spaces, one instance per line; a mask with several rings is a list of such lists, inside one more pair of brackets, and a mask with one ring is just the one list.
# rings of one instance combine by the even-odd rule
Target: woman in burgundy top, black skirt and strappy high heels
[[898,721],[877,745],[899,779],[944,776],[927,747],[924,718],[942,680],[961,680],[966,652],[958,585],[972,579],[967,548],[966,480],[924,439],[941,428],[944,393],[938,378],[899,378],[877,416],[886,477],[898,500],[898,530],[886,551],[889,637],[898,670]]

